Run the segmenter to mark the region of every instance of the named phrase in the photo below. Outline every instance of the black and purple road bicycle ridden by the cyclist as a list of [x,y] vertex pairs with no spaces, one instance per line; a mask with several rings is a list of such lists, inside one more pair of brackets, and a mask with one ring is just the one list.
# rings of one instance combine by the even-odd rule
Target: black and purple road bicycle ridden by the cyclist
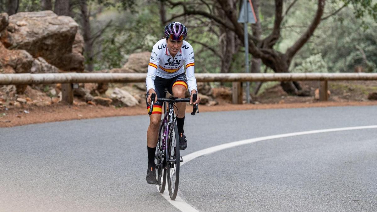
[[[158,143],[155,158],[157,160],[157,184],[159,191],[164,193],[167,179],[170,199],[175,200],[178,192],[179,184],[179,163],[182,157],[179,155],[179,135],[176,124],[176,116],[174,115],[174,103],[190,102],[190,98],[166,98],[167,90],[164,89],[164,98],[157,98],[157,101],[164,102],[164,118],[158,132]],[[151,99],[155,100],[156,94],[151,95]],[[197,99],[197,95],[193,94],[193,102]],[[168,105],[166,105],[168,103]],[[149,115],[153,112],[154,101],[151,102]],[[177,110],[178,111],[178,110]],[[198,104],[193,105],[191,115],[199,112]],[[178,114],[177,114],[178,115]]]

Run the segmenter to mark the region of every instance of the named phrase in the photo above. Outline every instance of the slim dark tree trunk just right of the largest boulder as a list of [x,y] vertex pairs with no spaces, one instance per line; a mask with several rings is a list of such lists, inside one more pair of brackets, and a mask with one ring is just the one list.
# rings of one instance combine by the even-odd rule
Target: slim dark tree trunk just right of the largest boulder
[[86,69],[88,71],[93,71],[93,44],[90,39],[90,22],[89,22],[89,12],[86,0],[80,0],[81,9],[81,19],[83,27],[83,38],[85,46],[85,57],[87,61]]

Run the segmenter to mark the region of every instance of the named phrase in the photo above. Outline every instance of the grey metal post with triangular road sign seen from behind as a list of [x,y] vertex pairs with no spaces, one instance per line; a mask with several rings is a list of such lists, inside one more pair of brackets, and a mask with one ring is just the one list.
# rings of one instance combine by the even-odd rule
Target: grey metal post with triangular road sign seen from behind
[[[256,23],[256,16],[251,0],[244,0],[242,4],[238,23],[244,23],[244,37],[245,37],[245,72],[249,73],[249,37],[247,30],[247,23]],[[246,102],[250,103],[250,82],[246,82]]]

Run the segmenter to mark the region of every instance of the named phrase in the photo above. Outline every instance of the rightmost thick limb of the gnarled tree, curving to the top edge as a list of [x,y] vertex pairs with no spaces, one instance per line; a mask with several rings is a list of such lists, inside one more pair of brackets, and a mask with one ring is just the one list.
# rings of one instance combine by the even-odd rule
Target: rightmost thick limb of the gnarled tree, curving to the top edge
[[305,31],[304,34],[301,35],[301,37],[296,41],[296,43],[294,43],[290,48],[287,49],[285,55],[288,58],[292,58],[297,53],[297,51],[299,51],[301,47],[309,40],[311,35],[313,35],[314,30],[316,30],[317,26],[321,22],[323,9],[325,8],[325,1],[326,0],[318,0],[316,16],[314,17],[307,31]]

